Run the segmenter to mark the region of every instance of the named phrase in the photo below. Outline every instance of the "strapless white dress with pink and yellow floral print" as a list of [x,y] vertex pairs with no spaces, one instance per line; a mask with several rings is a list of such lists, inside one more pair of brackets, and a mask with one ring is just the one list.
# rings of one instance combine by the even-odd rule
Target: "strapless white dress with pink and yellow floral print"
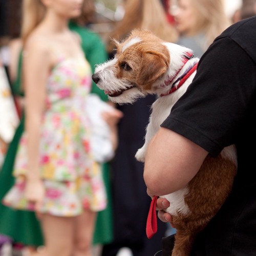
[[[83,209],[99,211],[106,207],[101,168],[90,151],[90,121],[84,114],[91,75],[84,58],[61,59],[49,75],[39,142],[40,175],[46,190],[41,212],[70,217],[81,214]],[[26,145],[24,132],[14,165],[16,181],[3,203],[33,210],[24,195]]]

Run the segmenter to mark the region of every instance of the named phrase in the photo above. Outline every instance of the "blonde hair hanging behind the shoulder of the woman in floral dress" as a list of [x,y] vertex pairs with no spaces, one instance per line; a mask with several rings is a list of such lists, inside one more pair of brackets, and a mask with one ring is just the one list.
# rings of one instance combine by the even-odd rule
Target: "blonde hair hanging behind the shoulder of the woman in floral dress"
[[46,7],[41,3],[41,0],[23,0],[22,11],[21,37],[25,42],[30,33],[41,22]]

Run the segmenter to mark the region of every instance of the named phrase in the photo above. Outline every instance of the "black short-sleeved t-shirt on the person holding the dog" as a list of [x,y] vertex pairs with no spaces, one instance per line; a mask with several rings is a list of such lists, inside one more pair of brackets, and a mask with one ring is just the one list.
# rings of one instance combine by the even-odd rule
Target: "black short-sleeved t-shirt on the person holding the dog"
[[187,92],[162,127],[212,156],[236,144],[238,174],[231,195],[201,232],[191,255],[256,255],[256,16],[216,38]]

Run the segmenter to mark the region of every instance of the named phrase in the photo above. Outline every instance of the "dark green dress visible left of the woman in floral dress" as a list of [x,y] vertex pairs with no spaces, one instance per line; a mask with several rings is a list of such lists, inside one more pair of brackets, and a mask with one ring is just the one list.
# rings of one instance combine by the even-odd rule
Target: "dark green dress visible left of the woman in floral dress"
[[[17,80],[13,84],[13,93],[18,96],[23,96],[23,93],[20,91],[20,57],[18,66],[18,75]],[[22,119],[20,120],[14,137],[8,147],[5,161],[0,172],[0,201],[2,201],[7,191],[14,184],[12,169],[18,142],[23,131],[24,115],[22,115]],[[0,233],[9,236],[15,242],[21,242],[25,245],[39,246],[44,244],[40,224],[37,221],[34,212],[15,210],[2,203],[0,203]]]

